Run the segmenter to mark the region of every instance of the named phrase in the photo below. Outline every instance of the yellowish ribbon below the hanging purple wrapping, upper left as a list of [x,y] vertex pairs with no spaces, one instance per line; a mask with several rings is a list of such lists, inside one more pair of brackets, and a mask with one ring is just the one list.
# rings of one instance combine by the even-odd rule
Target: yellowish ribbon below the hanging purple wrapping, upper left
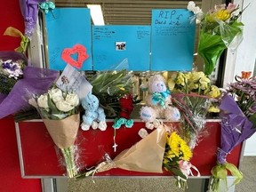
[[6,28],[6,30],[4,31],[4,36],[14,36],[14,37],[19,37],[21,38],[21,42],[20,42],[20,46],[18,48],[15,49],[15,52],[26,52],[27,48],[28,48],[28,43],[29,43],[29,39],[28,36],[24,36],[19,29],[17,28]]

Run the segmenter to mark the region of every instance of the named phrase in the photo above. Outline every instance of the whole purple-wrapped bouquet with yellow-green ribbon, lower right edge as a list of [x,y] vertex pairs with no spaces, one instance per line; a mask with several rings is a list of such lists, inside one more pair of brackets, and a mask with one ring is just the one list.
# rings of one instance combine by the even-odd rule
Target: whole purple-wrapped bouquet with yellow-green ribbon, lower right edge
[[233,185],[243,179],[242,172],[235,164],[228,163],[226,158],[233,148],[256,132],[255,80],[248,76],[236,76],[236,82],[228,84],[227,94],[221,99],[220,148],[217,151],[217,164],[212,168],[212,191],[228,191],[228,172],[235,177]]

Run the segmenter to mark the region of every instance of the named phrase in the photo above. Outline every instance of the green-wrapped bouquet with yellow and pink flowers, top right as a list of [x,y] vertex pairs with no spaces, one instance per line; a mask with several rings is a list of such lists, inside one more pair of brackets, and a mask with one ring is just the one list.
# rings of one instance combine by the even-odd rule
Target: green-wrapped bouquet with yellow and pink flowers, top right
[[[216,4],[208,12],[198,12],[194,2],[188,3],[188,10],[195,12],[200,22],[198,54],[204,60],[204,73],[210,76],[221,53],[230,48],[233,51],[243,40],[244,24],[238,21],[242,12],[237,4]],[[200,10],[200,9],[199,9]]]

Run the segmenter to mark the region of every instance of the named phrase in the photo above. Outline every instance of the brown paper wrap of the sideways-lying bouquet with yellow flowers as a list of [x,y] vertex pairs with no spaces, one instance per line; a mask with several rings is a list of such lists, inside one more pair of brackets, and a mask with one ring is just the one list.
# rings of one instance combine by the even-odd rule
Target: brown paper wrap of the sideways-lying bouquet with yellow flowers
[[121,168],[133,172],[162,173],[163,158],[166,143],[163,125],[131,148],[122,151],[111,161],[105,161],[96,167],[96,172],[106,172],[112,168]]

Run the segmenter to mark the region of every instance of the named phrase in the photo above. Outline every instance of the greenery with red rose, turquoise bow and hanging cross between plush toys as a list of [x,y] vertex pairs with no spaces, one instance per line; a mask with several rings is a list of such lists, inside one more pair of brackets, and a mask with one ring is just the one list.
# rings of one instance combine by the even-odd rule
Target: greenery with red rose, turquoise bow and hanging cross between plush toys
[[[126,62],[121,62],[121,67]],[[130,117],[133,107],[139,103],[137,96],[132,94],[132,74],[126,69],[98,72],[90,81],[92,93],[99,99],[100,107],[108,118],[114,118],[114,151],[116,152],[117,130],[122,126],[132,128]]]

